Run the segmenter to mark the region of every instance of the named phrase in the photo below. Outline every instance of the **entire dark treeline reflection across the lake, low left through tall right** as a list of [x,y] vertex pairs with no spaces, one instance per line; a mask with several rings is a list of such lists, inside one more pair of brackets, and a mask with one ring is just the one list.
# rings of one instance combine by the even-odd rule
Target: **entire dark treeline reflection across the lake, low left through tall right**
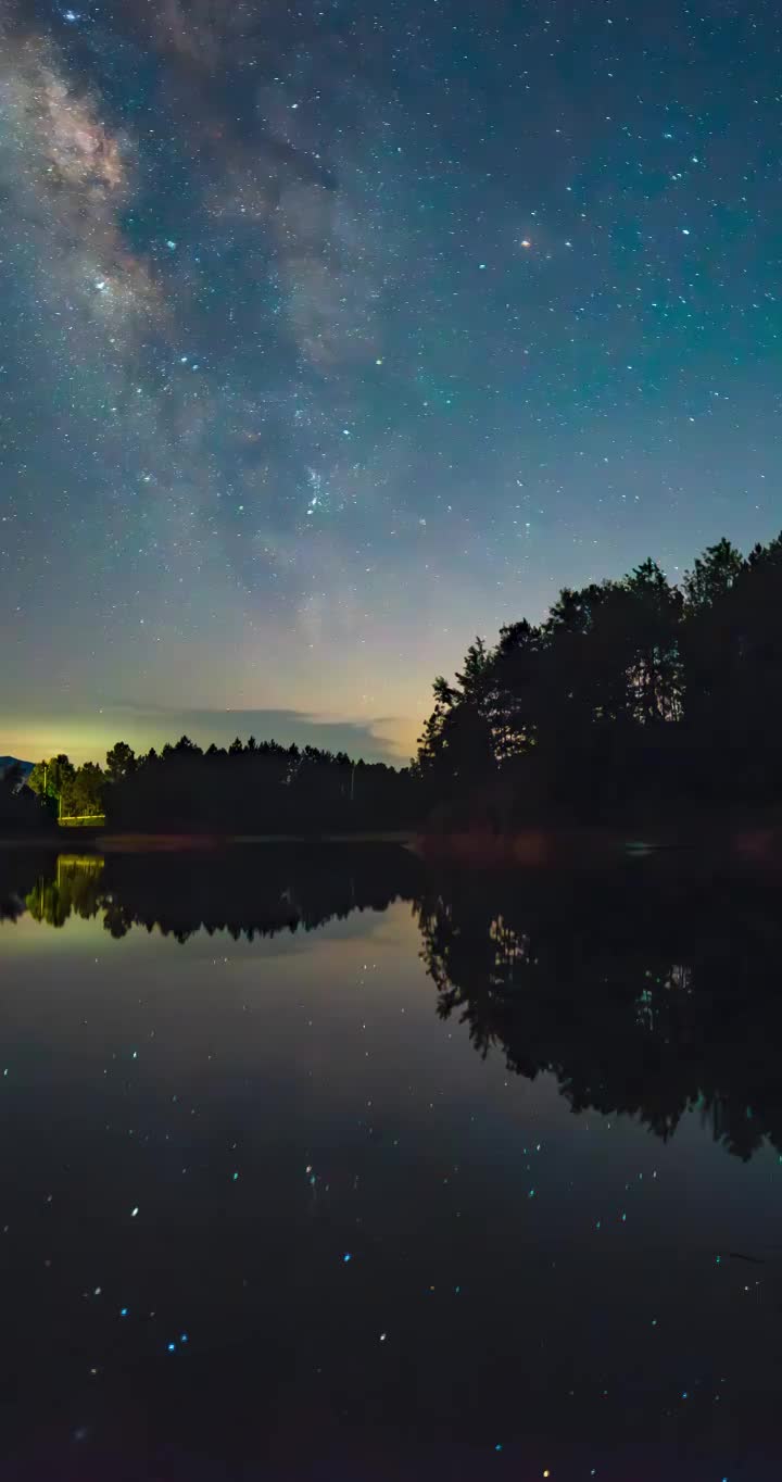
[[650,861],[600,883],[435,880],[401,849],[278,845],[61,860],[27,904],[55,926],[101,916],[114,937],[136,925],[185,941],[201,926],[250,940],[314,929],[395,898],[415,904],[438,1012],[458,1015],[480,1054],[496,1048],[530,1079],[552,1073],[575,1112],[628,1113],[666,1138],[699,1109],[738,1156],[764,1138],[782,1153],[782,925],[757,882],[683,891]]

